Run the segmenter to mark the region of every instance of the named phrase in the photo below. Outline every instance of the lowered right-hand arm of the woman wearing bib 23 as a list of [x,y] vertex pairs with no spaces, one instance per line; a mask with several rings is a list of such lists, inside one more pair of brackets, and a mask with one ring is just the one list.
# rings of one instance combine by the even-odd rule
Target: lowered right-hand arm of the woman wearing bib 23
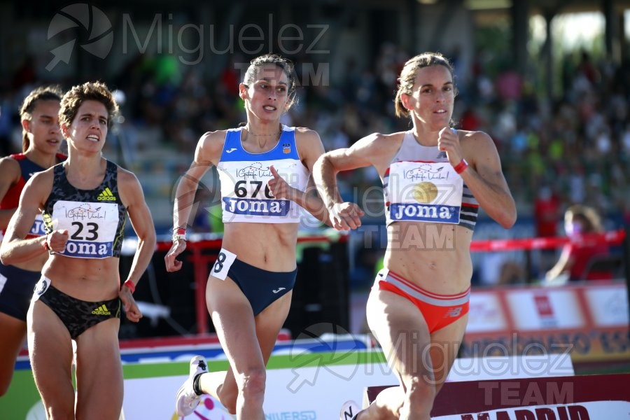
[[[134,228],[138,236],[136,253],[134,253],[134,260],[127,275],[127,281],[131,281],[136,285],[146,267],[148,267],[149,262],[151,262],[155,251],[155,227],[151,218],[151,211],[149,211],[144,199],[142,187],[132,172],[118,169],[118,191],[120,192],[120,200],[123,201],[127,208],[132,228]],[[121,288],[119,296],[120,300],[123,301],[127,319],[138,322],[142,314],[130,288]]]

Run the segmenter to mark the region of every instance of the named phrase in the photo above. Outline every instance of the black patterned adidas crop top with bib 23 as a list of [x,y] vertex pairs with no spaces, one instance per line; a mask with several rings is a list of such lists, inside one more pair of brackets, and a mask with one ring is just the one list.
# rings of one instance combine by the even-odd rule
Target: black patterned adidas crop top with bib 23
[[118,165],[107,161],[103,182],[94,190],[79,190],[66,178],[64,165],[55,165],[52,191],[43,220],[46,233],[68,230],[61,255],[75,258],[120,257],[127,209],[118,194]]

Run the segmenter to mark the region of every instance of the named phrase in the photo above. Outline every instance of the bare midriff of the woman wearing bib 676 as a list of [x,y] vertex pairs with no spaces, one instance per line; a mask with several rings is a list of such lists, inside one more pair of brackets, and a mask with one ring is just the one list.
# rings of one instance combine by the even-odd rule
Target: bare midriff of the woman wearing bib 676
[[293,271],[295,244],[297,223],[225,223],[223,248],[260,269]]

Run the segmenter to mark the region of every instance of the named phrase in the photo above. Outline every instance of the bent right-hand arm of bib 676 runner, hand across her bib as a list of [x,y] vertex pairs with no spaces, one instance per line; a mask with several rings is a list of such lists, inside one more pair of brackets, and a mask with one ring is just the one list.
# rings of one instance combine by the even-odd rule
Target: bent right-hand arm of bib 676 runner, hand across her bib
[[[297,128],[295,129],[295,143],[297,144],[300,158],[302,158],[302,163],[309,169],[309,174],[312,174],[316,160],[324,153],[319,134],[313,130]],[[274,179],[269,181],[269,190],[271,190],[274,197],[291,200],[315,216],[318,221],[330,225],[328,221],[328,210],[316,193],[312,175],[309,176],[309,183],[306,190],[300,191],[290,187],[282,178],[281,174],[276,172],[274,167],[270,167],[269,169],[271,169],[274,176]]]

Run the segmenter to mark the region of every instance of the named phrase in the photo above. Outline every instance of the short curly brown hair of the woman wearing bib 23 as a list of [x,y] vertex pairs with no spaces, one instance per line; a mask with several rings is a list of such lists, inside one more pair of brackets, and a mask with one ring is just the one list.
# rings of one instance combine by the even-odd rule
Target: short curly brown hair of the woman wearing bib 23
[[83,85],[73,86],[62,98],[59,109],[59,124],[70,126],[76,117],[78,109],[85,101],[97,101],[107,109],[107,127],[111,128],[113,117],[118,115],[118,104],[113,99],[113,94],[102,82],[86,82]]

